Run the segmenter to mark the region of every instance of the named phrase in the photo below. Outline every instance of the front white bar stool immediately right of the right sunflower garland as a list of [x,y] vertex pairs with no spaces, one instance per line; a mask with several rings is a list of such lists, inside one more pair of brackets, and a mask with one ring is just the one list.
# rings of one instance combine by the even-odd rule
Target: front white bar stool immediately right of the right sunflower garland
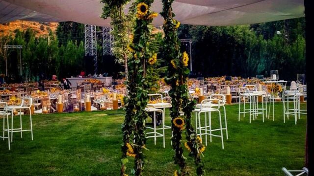
[[[218,106],[214,107],[214,108],[204,108],[203,105],[206,103],[212,103],[212,102],[217,102]],[[215,104],[215,103],[213,103]],[[200,108],[199,109],[195,109],[193,110],[193,112],[195,112],[195,123],[196,123],[196,133],[197,135],[199,135],[202,139],[202,135],[205,135],[205,144],[207,146],[207,135],[209,135],[210,137],[210,142],[211,140],[211,136],[215,136],[215,137],[220,137],[221,138],[221,145],[222,145],[222,149],[224,149],[224,138],[223,138],[223,128],[222,128],[222,123],[221,123],[221,113],[220,113],[220,101],[219,99],[205,99],[201,102]],[[219,114],[219,127],[218,129],[212,129],[211,127],[211,112],[218,112]],[[205,113],[205,125],[202,126],[201,125],[201,113]],[[209,124],[207,124],[207,113],[209,114]],[[208,129],[209,128],[209,129]],[[199,130],[199,133],[197,132],[197,130]],[[204,132],[202,132],[204,131]],[[215,131],[220,131],[220,135],[216,135],[216,134],[212,134],[212,132]],[[209,132],[209,133],[208,133]]]

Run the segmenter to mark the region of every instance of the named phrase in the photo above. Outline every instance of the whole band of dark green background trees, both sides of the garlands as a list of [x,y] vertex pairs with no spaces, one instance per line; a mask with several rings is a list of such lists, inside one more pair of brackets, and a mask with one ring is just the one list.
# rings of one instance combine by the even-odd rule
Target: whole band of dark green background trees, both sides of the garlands
[[[103,55],[101,28],[97,31],[98,74],[118,77],[123,66]],[[297,73],[305,73],[304,18],[238,26],[181,25],[179,38],[193,39],[193,74],[255,77],[279,70],[280,79],[291,81]],[[27,81],[51,79],[52,74],[60,79],[76,76],[80,70],[94,73],[93,58],[85,56],[84,24],[60,22],[55,33],[40,37],[32,29],[17,29],[11,36],[0,36],[0,46],[5,44],[23,45],[23,77]],[[188,45],[183,44],[182,49],[189,51]],[[0,51],[0,72],[5,73],[2,47]],[[8,50],[7,57],[8,73],[18,76],[19,51]]]

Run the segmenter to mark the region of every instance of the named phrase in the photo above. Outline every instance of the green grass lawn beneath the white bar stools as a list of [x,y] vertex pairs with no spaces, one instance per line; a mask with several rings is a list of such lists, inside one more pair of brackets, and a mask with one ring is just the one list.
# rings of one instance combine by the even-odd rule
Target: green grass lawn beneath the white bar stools
[[[275,176],[283,175],[282,167],[302,169],[305,115],[301,115],[297,125],[294,125],[292,116],[284,124],[282,103],[276,103],[275,121],[271,118],[263,123],[259,116],[249,124],[248,115],[238,122],[237,105],[226,109],[229,140],[224,140],[224,150],[218,137],[213,137],[208,144],[205,157],[202,157],[206,176]],[[213,114],[212,119],[214,117]],[[18,127],[19,120],[15,118]],[[24,128],[29,125],[28,119],[23,116]],[[34,115],[33,141],[30,132],[24,132],[22,139],[20,133],[14,133],[11,151],[7,141],[0,141],[0,176],[118,176],[123,119],[123,110]],[[166,124],[170,124],[169,111]],[[213,120],[213,128],[216,125]],[[162,138],[157,138],[156,146],[154,139],[148,139],[145,176],[173,176],[176,165],[172,161],[170,138],[171,131],[166,130],[165,149],[162,148]],[[185,156],[194,176],[193,159],[188,157],[186,150]],[[132,158],[127,167],[130,174]]]

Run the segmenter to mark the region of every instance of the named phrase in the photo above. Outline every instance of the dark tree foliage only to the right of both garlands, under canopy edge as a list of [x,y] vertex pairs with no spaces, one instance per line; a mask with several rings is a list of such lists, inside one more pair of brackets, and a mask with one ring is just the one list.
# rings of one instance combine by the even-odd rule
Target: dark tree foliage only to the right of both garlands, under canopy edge
[[[295,80],[305,72],[304,18],[238,26],[179,28],[180,38],[193,38],[192,66],[203,76],[269,76]],[[280,34],[277,34],[277,31]]]

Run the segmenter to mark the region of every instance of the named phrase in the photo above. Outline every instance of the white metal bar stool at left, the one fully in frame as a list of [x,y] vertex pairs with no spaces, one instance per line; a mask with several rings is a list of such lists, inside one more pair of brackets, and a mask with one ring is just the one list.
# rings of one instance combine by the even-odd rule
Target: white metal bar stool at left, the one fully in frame
[[[27,102],[27,104],[26,104]],[[11,132],[11,142],[13,141],[13,132],[21,132],[21,138],[23,138],[23,132],[31,132],[31,140],[33,140],[33,126],[32,126],[32,120],[31,120],[31,105],[32,105],[32,98],[23,98],[21,106],[9,106],[6,107],[7,111],[10,111],[11,113],[11,129],[9,131]],[[30,120],[30,129],[23,130],[22,129],[22,110],[29,110],[29,120]],[[13,129],[13,111],[14,110],[20,110],[20,128]],[[7,131],[7,130],[6,130]]]

